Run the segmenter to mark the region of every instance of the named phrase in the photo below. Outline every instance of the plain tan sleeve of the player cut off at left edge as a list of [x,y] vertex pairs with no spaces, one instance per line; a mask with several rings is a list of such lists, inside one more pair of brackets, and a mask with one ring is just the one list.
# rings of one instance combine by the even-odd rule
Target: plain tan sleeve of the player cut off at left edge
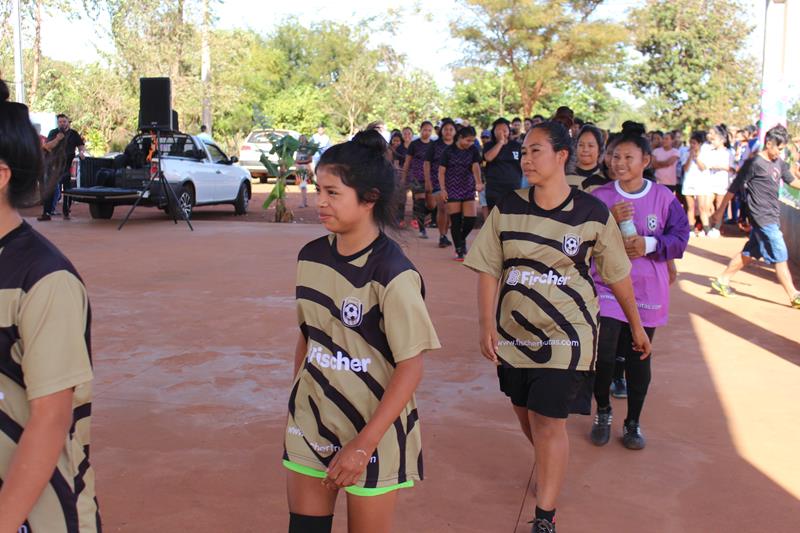
[[88,320],[86,288],[66,270],[45,276],[28,291],[19,322],[28,400],[92,380]]

